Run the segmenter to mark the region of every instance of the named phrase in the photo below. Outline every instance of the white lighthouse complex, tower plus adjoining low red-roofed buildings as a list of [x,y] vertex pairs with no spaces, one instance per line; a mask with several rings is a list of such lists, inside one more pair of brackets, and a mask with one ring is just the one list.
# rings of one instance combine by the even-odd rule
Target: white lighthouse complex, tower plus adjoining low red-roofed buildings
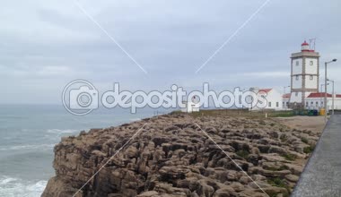
[[[324,108],[324,92],[319,92],[319,53],[304,41],[302,50],[291,56],[291,93],[283,95],[286,107]],[[327,97],[327,110],[332,108],[332,95]],[[341,95],[334,95],[334,109],[341,109]]]

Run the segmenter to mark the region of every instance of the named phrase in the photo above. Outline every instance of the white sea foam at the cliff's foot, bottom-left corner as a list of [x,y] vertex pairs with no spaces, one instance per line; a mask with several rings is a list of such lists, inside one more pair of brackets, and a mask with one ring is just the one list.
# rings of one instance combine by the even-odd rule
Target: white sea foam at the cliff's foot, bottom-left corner
[[43,193],[48,181],[25,181],[20,178],[0,176],[0,196],[37,197]]

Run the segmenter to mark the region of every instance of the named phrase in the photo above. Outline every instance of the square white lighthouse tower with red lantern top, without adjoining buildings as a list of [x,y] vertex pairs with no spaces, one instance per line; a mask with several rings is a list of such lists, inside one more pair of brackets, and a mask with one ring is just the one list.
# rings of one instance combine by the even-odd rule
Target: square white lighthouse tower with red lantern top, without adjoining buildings
[[312,92],[319,91],[319,53],[304,41],[302,50],[293,53],[291,73],[291,107],[308,106],[305,98]]

